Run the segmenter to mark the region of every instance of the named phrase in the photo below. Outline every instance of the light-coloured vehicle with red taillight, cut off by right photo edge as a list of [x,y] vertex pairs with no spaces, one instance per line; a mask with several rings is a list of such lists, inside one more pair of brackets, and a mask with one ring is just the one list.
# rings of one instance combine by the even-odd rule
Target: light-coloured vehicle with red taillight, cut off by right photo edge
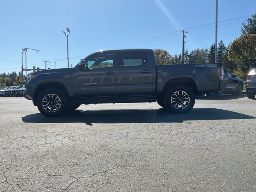
[[253,99],[256,95],[256,66],[246,75],[246,94],[249,99]]

